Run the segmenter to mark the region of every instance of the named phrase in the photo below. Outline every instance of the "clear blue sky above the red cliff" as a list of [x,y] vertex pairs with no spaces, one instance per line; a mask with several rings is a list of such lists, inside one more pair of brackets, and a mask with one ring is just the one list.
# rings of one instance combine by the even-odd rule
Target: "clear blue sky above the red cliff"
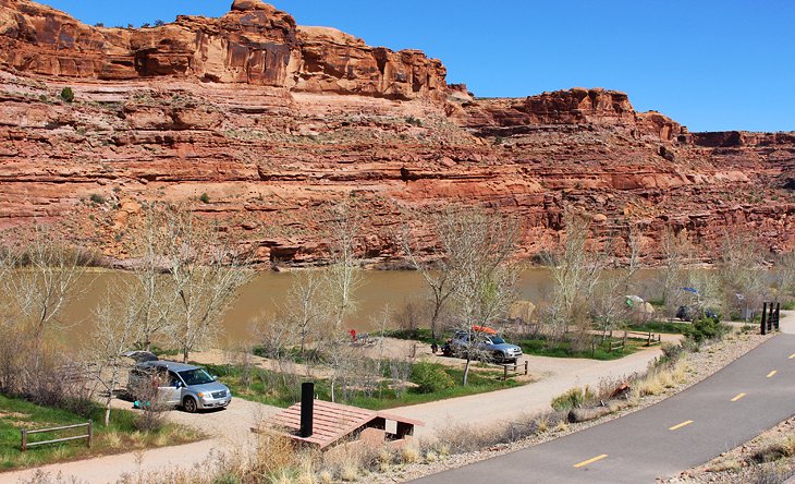
[[[45,0],[136,26],[219,16],[231,0]],[[302,25],[441,59],[477,96],[573,86],[624,90],[692,131],[795,131],[792,0],[272,0]]]

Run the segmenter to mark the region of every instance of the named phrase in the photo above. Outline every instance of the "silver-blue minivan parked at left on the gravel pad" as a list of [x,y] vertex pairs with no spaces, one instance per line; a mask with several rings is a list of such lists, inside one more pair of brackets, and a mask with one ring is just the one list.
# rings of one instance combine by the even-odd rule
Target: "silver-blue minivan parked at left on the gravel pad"
[[136,399],[142,397],[140,394],[157,388],[156,398],[159,402],[182,407],[188,413],[225,408],[232,401],[230,389],[205,368],[162,361],[157,356],[152,360],[151,353],[140,351],[124,354],[137,362],[127,379],[127,391]]

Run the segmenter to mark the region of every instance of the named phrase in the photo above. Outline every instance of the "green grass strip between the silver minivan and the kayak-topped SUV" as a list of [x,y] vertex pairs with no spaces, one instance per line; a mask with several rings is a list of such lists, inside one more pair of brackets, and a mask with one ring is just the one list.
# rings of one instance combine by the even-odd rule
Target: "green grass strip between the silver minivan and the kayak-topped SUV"
[[[430,367],[424,368],[421,365],[429,365]],[[227,385],[235,397],[281,408],[290,407],[301,399],[302,378],[293,376],[283,377],[278,373],[256,367],[252,368],[248,376],[246,376],[240,366],[203,366],[213,375],[217,375],[218,379]],[[464,397],[467,395],[485,394],[522,385],[522,383],[511,378],[507,382],[503,382],[502,370],[492,370],[487,366],[481,367],[476,363],[473,363],[473,367],[469,371],[467,386],[462,385],[464,377],[463,370],[432,363],[415,363],[415,368],[423,370],[412,372],[409,382],[418,385],[418,387],[407,388],[402,395],[397,395],[393,388],[389,387],[387,382],[382,382],[370,392],[350,391],[346,399],[341,399],[338,392],[338,401],[365,409],[382,410]],[[429,383],[429,375],[432,376],[436,372],[447,374],[448,378],[439,378],[445,382],[444,385]],[[247,386],[244,383],[246,378],[248,379]],[[315,379],[314,382],[315,392],[318,395],[318,398],[327,401],[331,400],[330,380]],[[452,382],[452,386],[449,386],[447,382]]]

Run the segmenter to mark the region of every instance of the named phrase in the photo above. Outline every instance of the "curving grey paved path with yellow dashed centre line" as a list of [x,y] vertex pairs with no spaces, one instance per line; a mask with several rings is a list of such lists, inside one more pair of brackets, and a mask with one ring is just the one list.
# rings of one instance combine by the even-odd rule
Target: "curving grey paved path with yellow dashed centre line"
[[795,414],[795,335],[648,409],[417,483],[653,483]]

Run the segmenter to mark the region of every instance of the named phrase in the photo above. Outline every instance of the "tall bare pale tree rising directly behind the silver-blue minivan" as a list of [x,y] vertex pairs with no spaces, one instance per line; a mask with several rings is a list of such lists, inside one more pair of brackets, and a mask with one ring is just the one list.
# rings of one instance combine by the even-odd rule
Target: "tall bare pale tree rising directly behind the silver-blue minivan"
[[187,362],[191,351],[222,330],[221,317],[250,271],[245,268],[245,255],[222,240],[213,227],[187,211],[171,209],[168,215],[173,243],[167,274],[178,295],[171,313],[172,338]]

